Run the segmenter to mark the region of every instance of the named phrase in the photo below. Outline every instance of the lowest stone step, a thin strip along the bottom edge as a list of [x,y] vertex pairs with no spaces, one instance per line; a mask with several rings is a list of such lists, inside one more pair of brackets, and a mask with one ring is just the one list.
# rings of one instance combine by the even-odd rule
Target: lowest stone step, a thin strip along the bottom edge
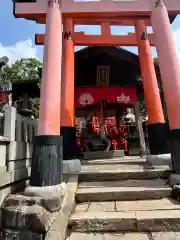
[[179,240],[180,232],[150,233],[77,233],[72,232],[66,240]]

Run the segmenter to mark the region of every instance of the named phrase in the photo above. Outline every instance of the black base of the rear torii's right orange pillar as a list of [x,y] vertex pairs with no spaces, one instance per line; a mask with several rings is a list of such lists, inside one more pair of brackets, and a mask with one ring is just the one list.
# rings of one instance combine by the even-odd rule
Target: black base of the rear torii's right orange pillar
[[166,123],[148,125],[148,140],[150,154],[158,155],[170,152],[170,130]]

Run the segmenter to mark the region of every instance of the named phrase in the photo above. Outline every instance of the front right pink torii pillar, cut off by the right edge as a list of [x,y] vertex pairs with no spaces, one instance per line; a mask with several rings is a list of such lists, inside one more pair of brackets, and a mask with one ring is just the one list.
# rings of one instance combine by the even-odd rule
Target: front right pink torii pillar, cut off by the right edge
[[154,1],[151,22],[170,125],[172,168],[180,174],[180,63],[164,1]]

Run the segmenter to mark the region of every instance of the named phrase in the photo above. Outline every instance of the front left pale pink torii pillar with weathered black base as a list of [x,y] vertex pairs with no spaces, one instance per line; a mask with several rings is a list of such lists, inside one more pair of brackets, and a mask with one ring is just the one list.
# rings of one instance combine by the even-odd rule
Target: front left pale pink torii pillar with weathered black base
[[62,13],[58,1],[47,3],[38,132],[34,141],[31,186],[62,182],[60,136]]

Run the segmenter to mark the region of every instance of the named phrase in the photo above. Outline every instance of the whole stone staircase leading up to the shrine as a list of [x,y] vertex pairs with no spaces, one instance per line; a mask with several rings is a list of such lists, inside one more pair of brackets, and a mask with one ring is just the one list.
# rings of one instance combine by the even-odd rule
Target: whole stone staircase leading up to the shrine
[[168,166],[138,157],[83,161],[68,240],[179,240]]

